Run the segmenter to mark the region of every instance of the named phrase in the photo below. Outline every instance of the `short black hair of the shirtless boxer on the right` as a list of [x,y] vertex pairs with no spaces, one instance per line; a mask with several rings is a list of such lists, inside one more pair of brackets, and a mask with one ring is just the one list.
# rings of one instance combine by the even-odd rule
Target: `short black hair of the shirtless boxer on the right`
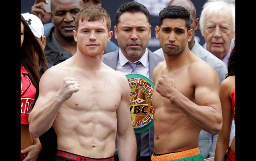
[[187,31],[190,30],[191,18],[190,13],[181,6],[168,6],[159,13],[159,27],[163,24],[164,19],[183,19],[186,21]]

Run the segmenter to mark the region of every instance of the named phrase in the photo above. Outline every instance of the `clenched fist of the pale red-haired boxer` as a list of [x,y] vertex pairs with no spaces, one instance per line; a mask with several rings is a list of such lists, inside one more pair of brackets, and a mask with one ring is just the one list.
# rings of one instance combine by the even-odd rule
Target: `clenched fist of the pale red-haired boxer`
[[57,92],[57,96],[63,100],[68,100],[74,92],[79,90],[79,84],[75,81],[75,78],[64,78],[59,91]]

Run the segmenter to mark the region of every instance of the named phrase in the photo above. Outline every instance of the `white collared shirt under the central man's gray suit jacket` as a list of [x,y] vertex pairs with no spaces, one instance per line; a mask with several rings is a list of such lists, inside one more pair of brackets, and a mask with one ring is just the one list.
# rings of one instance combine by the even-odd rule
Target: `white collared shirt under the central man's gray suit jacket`
[[[121,49],[119,48],[116,71],[120,71],[124,75],[130,74],[132,72],[132,67],[129,64],[126,64],[128,61],[129,60],[124,56]],[[146,48],[145,53],[141,56],[141,58],[138,61],[140,61],[141,64],[136,66],[137,73],[149,78],[148,48]],[[136,63],[138,61],[135,61],[133,63]]]

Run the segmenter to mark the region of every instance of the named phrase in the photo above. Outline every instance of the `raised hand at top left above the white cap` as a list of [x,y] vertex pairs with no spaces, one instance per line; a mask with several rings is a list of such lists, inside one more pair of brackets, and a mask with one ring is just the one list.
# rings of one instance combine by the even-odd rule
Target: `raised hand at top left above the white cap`
[[45,7],[40,2],[49,3],[47,0],[35,0],[34,6],[31,7],[31,13],[36,15],[45,24],[50,20],[52,14],[47,13]]

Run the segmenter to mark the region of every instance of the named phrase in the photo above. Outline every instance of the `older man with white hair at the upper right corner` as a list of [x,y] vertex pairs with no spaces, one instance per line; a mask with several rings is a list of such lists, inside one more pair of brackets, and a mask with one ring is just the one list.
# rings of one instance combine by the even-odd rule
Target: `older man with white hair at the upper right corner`
[[203,47],[227,65],[235,36],[235,5],[223,0],[206,2],[199,24],[205,40]]

